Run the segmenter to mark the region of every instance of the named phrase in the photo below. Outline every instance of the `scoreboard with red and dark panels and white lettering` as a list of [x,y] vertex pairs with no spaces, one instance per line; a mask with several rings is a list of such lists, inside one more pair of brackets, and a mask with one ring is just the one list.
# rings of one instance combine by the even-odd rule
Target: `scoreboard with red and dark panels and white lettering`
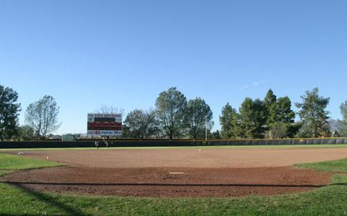
[[88,114],[87,134],[121,136],[121,114]]

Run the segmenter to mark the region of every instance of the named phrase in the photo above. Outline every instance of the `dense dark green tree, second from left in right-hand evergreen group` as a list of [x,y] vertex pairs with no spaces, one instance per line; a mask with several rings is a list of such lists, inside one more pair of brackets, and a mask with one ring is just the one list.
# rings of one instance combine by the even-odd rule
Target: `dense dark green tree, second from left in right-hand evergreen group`
[[239,109],[241,127],[244,137],[263,138],[266,125],[266,114],[262,100],[245,98]]

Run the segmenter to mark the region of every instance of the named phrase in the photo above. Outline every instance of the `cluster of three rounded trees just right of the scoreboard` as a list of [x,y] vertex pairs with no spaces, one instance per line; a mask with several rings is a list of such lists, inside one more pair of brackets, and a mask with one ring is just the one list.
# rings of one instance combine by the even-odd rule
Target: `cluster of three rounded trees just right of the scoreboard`
[[213,127],[212,110],[201,98],[187,98],[172,87],[155,100],[155,109],[130,111],[124,120],[126,138],[202,138]]

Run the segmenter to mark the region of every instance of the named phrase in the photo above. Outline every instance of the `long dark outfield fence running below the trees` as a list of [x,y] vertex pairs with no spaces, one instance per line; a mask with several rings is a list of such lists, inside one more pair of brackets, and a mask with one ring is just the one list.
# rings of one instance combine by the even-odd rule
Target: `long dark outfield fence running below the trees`
[[[95,147],[94,140],[78,141],[0,141],[1,148],[49,148],[49,147]],[[310,145],[347,144],[347,137],[339,138],[285,138],[285,139],[229,139],[229,140],[109,140],[110,147],[166,147],[203,145]],[[105,146],[99,141],[99,146]]]

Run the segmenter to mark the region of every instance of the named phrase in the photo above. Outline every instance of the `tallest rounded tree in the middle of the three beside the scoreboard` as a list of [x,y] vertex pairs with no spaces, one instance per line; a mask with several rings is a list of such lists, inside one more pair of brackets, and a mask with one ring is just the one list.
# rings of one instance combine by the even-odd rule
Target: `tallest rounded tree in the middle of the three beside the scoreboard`
[[183,136],[187,107],[187,99],[183,93],[180,93],[176,87],[162,91],[155,101],[155,107],[162,132],[170,139]]

